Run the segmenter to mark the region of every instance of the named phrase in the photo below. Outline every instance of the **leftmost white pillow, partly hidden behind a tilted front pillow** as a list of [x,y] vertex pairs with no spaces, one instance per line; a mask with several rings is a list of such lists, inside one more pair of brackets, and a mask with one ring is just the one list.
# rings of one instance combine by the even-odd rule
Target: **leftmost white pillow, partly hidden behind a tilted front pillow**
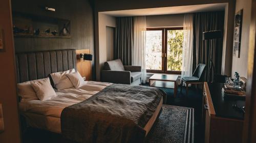
[[47,78],[37,79],[26,81],[17,84],[18,96],[22,97],[22,101],[30,101],[30,100],[38,100],[36,93],[31,86],[31,83],[36,82],[38,80],[45,80]]

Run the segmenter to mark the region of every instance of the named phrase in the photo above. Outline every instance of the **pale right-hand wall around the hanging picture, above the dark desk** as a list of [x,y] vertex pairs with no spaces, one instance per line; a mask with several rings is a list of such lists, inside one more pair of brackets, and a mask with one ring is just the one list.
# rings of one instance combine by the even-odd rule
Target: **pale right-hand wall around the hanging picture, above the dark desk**
[[240,76],[244,76],[247,78],[251,0],[237,0],[236,12],[238,12],[241,9],[243,9],[241,52],[240,58],[233,56],[231,75],[233,75],[233,73],[237,71]]

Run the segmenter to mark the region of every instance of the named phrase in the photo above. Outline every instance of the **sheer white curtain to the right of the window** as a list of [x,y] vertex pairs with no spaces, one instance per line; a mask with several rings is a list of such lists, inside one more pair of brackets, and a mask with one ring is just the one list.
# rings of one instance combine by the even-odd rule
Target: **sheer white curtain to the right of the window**
[[185,14],[181,77],[193,74],[193,14]]

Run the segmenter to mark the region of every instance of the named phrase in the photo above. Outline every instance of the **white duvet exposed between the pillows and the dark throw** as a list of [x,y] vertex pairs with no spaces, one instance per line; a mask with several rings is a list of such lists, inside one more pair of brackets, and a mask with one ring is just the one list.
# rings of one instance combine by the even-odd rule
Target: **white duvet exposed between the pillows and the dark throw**
[[19,109],[23,113],[60,118],[61,111],[70,105],[90,98],[92,95],[103,90],[111,83],[88,81],[79,89],[70,88],[56,91],[57,96],[48,100],[31,100],[19,103]]

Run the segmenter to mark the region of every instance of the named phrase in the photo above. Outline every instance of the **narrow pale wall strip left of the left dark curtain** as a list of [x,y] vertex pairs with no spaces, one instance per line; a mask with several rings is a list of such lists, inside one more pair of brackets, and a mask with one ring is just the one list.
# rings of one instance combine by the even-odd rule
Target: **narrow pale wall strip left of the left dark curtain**
[[96,79],[100,80],[100,71],[103,68],[104,62],[107,61],[107,51],[106,51],[106,26],[116,27],[116,18],[114,16],[105,15],[102,13],[98,14],[98,35],[99,35],[99,45],[96,46]]

